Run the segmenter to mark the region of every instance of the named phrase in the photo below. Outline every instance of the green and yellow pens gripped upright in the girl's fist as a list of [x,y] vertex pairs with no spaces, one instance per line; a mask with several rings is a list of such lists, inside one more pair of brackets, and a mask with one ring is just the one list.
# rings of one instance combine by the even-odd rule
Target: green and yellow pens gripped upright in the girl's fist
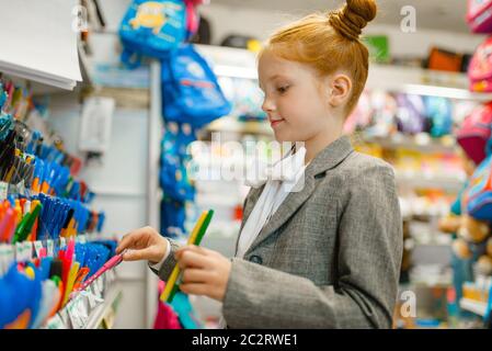
[[[187,240],[187,245],[196,245],[199,246],[203,237],[205,236],[205,231],[207,230],[208,225],[210,224],[211,216],[214,215],[214,211],[204,211],[202,215],[198,217],[195,227],[193,228],[190,238]],[[169,276],[169,280],[165,284],[165,288],[161,294],[161,301],[167,303],[172,303],[172,299],[178,292],[179,282],[181,281],[181,270],[176,264]]]

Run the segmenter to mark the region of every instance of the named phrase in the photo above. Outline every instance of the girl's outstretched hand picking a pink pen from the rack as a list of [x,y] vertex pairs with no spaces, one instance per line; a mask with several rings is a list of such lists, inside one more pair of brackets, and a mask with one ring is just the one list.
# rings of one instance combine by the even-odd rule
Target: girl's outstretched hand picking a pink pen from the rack
[[144,227],[123,237],[116,248],[116,253],[128,249],[123,254],[124,261],[148,260],[150,263],[160,262],[168,250],[165,240],[156,229]]

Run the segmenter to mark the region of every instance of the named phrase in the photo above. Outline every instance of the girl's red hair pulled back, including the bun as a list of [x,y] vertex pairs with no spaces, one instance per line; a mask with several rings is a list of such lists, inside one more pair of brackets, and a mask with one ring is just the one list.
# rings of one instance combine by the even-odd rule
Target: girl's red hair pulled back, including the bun
[[260,55],[276,56],[312,66],[322,77],[337,70],[352,79],[346,114],[356,105],[369,69],[369,53],[359,35],[376,16],[374,0],[346,0],[339,10],[313,13],[274,33]]

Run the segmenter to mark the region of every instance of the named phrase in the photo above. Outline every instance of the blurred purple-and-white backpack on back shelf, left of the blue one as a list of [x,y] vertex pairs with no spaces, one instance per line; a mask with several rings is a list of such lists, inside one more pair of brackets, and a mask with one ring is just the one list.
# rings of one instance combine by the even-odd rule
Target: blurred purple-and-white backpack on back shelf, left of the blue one
[[398,131],[408,134],[422,133],[426,128],[425,105],[421,95],[398,94]]

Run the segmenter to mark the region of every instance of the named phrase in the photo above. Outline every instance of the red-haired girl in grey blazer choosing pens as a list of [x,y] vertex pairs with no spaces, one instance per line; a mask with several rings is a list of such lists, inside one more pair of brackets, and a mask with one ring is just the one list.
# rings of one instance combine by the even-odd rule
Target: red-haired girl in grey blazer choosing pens
[[178,262],[181,291],[221,302],[229,328],[390,328],[402,256],[393,171],[342,136],[368,72],[358,37],[375,15],[374,0],[347,0],[261,52],[262,107],[278,141],[304,141],[289,155],[304,184],[254,184],[233,259],[146,227],[122,239],[124,260],[148,260],[164,281]]

